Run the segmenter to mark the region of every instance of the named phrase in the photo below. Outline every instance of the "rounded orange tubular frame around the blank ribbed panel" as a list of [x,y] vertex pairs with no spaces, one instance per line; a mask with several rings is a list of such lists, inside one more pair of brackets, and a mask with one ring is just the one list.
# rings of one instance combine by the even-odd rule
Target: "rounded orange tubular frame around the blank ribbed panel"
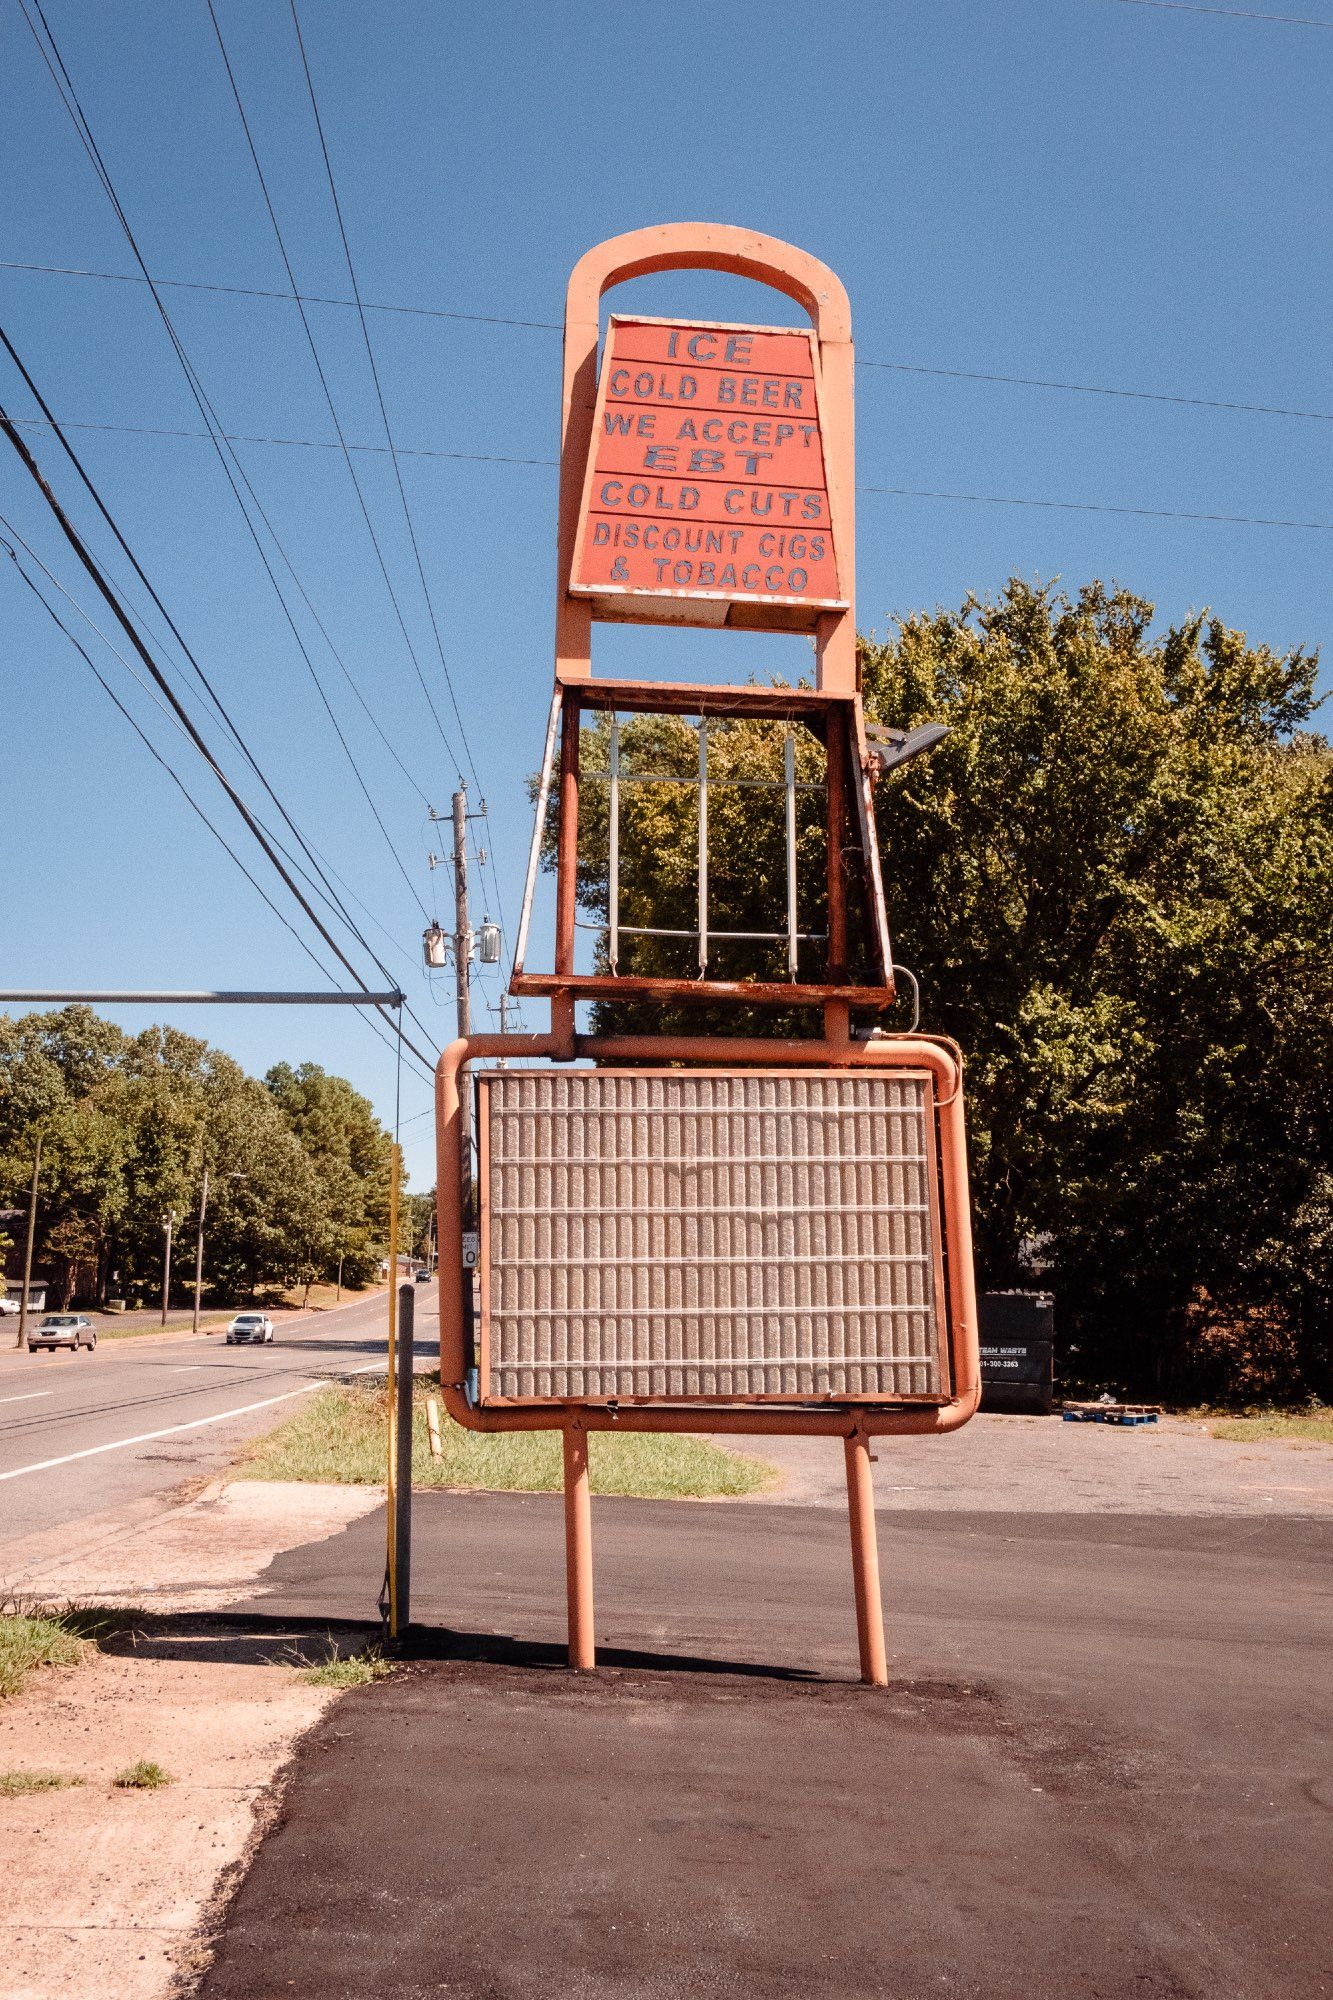
[[[464,1386],[462,1314],[462,1190],[458,1170],[460,1072],[468,1060],[488,1056],[544,1056],[572,1062],[695,1062],[729,1070],[775,1068],[925,1068],[937,1086],[939,1170],[943,1204],[951,1220],[947,1268],[949,1362],[953,1394],[931,1408],[877,1408],[865,1400],[841,1400],[819,1408],[739,1408],[709,1410],[681,1404],[634,1404],[632,1408],[578,1406],[594,1430],[713,1430],[747,1436],[801,1432],[851,1436],[861,1426],[867,1436],[941,1434],[965,1424],[981,1398],[981,1352],[977,1342],[977,1296],[973,1284],[973,1238],[967,1186],[967,1134],[963,1122],[963,1060],[957,1044],[939,1036],[899,1036],[883,1042],[843,1042],[837,1038],[779,1042],[749,1036],[578,1036],[572,1010],[562,1008],[562,1028],[552,1034],[472,1036],[450,1042],[436,1066],[436,1210],[440,1242],[440,1384],[444,1404],[472,1430],[558,1430],[572,1404],[524,1404],[514,1410],[476,1410]],[[943,1232],[937,1232],[937,1238]],[[470,1282],[470,1280],[468,1280]]]

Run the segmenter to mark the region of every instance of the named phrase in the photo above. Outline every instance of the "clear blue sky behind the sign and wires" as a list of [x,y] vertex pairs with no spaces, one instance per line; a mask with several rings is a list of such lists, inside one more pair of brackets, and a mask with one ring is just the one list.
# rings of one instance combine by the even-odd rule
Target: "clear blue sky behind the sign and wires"
[[[304,292],[348,278],[290,12],[214,0]],[[1011,572],[1115,578],[1161,620],[1213,606],[1273,646],[1333,636],[1327,418],[1019,388],[907,368],[1333,412],[1327,0],[1269,12],[1329,28],[1127,0],[829,0],[662,16],[610,0],[304,0],[302,30],[362,296],[558,322],[592,242],[662,220],[741,222],[847,282],[863,362],[863,486],[1091,502],[1149,514],[863,492],[859,620],[997,590]],[[78,96],[156,278],[284,290],[286,278],[204,0],[46,0]],[[0,256],[132,272],[16,0],[0,0]],[[330,442],[296,308],[168,290],[228,430]],[[622,288],[616,304],[789,320],[721,278]],[[356,316],[310,308],[350,440],[382,442]],[[60,418],[198,430],[142,284],[0,268],[0,320]],[[516,922],[524,776],[550,688],[558,336],[542,326],[370,316],[444,656],[488,802],[472,832]],[[8,358],[0,398],[32,414]],[[26,432],[112,572],[58,448]],[[144,568],[308,838],[392,934],[366,934],[446,1038],[452,990],[412,972],[422,918],[318,704],[208,442],[70,434]],[[444,902],[440,812],[458,752],[436,734],[336,450],[240,444],[244,470],[412,772],[402,778],[326,654],[358,766],[422,902]],[[358,472],[436,708],[452,730],[388,460]],[[0,510],[78,600],[94,598],[18,462]],[[1267,528],[1159,514],[1269,516]],[[138,602],[138,596],[134,596]],[[102,622],[98,614],[98,622]],[[154,620],[156,630],[156,620]],[[242,848],[124,668],[92,652]],[[1333,660],[1333,654],[1329,654]],[[799,672],[801,642],[600,628],[594,662],[731,678]],[[304,986],[312,968],[188,812],[84,662],[0,568],[6,986]],[[1325,682],[1327,684],[1327,682]],[[452,732],[456,736],[456,730]],[[246,856],[248,860],[250,856]],[[264,874],[262,856],[256,872]],[[282,892],[278,890],[278,900]],[[498,916],[496,890],[474,914]],[[326,954],[324,954],[326,956]],[[534,960],[540,952],[534,950]],[[364,962],[364,958],[362,958]],[[498,998],[478,992],[478,1022]],[[126,1026],[142,1018],[124,1016]],[[394,1062],[344,1012],[190,1010],[248,1068],[304,1056],[392,1114]],[[544,1006],[528,1002],[538,1026]],[[402,1088],[414,1184],[432,1178],[428,1088]]]

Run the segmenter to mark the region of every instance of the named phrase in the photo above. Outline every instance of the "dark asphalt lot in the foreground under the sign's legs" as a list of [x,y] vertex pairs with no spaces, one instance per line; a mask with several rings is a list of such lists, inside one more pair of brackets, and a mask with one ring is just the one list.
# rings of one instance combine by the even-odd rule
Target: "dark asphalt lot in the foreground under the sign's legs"
[[[256,1636],[382,1534],[280,1556]],[[594,1544],[574,1678],[558,1500],[418,1498],[436,1656],[304,1740],[202,2000],[1333,1992],[1327,1520],[885,1512],[887,1692],[837,1678],[833,1508],[598,1500]]]

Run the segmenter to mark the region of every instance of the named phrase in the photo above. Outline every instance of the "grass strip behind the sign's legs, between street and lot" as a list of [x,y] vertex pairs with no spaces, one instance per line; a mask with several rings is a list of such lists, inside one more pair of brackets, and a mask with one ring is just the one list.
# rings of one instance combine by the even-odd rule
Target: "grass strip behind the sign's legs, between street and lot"
[[[462,1430],[442,1418],[444,1456],[430,1456],[426,1396],[434,1378],[418,1378],[412,1416],[412,1484],[482,1492],[560,1492],[564,1472],[556,1430]],[[382,1386],[334,1382],[266,1438],[236,1468],[244,1480],[320,1480],[380,1486],[386,1454]],[[638,1500],[719,1500],[763,1492],[777,1474],[757,1458],[725,1452],[677,1432],[596,1430],[588,1440],[594,1494]]]

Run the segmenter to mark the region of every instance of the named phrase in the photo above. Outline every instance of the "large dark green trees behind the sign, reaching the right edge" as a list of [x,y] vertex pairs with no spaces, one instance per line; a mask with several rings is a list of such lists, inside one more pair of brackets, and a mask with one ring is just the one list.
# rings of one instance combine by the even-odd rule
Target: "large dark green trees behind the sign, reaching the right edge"
[[[923,1028],[965,1050],[979,1280],[1055,1294],[1065,1374],[1175,1398],[1329,1396],[1333,756],[1311,726],[1317,654],[1213,616],[1153,620],[1129,590],[1015,578],[861,642],[867,720],[949,726],[877,790],[895,956],[921,980]],[[622,772],[697,772],[693,726],[620,728]],[[781,728],[711,724],[709,764],[713,922],[775,930],[783,794],[721,780],[781,778]],[[582,766],[578,896],[602,920],[606,718]],[[797,776],[823,780],[811,736]],[[689,786],[622,786],[624,924],[693,928],[695,846]],[[817,792],[799,794],[797,846],[799,924],[819,932]],[[781,954],[719,946],[713,970],[783,978]],[[691,942],[620,946],[622,970],[689,976],[691,960]],[[703,1026],[697,1008],[654,1022]],[[604,1004],[596,1024],[646,1022]],[[729,1008],[709,1026],[795,1024]]]

